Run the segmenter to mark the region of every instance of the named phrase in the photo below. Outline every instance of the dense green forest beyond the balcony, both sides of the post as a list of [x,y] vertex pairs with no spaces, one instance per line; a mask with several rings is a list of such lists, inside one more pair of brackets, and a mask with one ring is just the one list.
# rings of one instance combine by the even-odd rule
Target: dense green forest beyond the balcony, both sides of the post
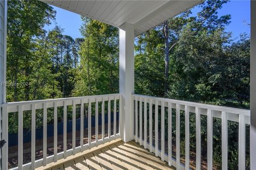
[[[249,109],[250,35],[241,33],[234,40],[232,32],[226,31],[231,15],[219,16],[218,10],[228,2],[207,0],[199,4],[196,16],[185,11],[137,36],[135,94]],[[55,20],[52,6],[23,0],[7,5],[7,82],[14,84],[7,86],[8,102],[119,92],[118,28],[81,16],[82,37],[73,39],[58,25],[44,30]],[[207,123],[207,117],[201,121]],[[191,122],[195,128],[195,121]],[[206,151],[207,126],[203,125],[202,151]],[[230,169],[238,169],[237,128],[237,123],[229,122]],[[17,127],[9,131],[15,133]],[[213,134],[214,167],[219,169],[220,120],[214,120]],[[195,141],[195,133],[190,133],[190,139]],[[246,168],[248,155],[246,149]]]

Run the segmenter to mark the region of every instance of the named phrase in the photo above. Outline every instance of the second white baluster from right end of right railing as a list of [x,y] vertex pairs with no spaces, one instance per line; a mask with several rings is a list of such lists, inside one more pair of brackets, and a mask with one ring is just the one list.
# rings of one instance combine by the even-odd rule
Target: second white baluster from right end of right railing
[[228,169],[228,120],[227,113],[221,113],[222,169]]

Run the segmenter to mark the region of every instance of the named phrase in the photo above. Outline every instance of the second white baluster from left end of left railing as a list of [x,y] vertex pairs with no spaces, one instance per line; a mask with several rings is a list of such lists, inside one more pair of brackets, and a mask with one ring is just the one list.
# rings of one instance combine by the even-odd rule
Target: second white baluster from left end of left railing
[[35,169],[36,152],[36,109],[35,104],[31,105],[31,169]]

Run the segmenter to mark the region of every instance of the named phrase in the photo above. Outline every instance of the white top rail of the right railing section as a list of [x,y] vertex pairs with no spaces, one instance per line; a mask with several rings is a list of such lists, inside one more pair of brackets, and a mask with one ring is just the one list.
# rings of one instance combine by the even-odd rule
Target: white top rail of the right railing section
[[192,107],[212,109],[214,111],[222,111],[222,112],[227,112],[227,113],[243,114],[245,116],[250,116],[250,110],[247,110],[247,109],[233,108],[233,107],[227,107],[227,106],[209,105],[209,104],[195,103],[195,102],[191,102],[191,101],[175,100],[175,99],[137,95],[137,94],[132,94],[132,96],[153,99],[153,100],[158,100],[158,101],[165,101],[165,102],[170,102],[170,103],[180,104],[180,105],[188,105],[188,106],[192,106]]

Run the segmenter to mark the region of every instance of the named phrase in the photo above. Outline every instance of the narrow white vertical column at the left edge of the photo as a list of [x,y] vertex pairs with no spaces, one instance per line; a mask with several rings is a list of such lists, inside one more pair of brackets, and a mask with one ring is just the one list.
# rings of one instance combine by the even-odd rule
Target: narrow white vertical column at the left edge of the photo
[[[0,1],[0,106],[6,103],[6,86],[2,82],[6,81],[6,35],[7,35],[7,1]],[[7,132],[4,134],[2,129],[2,109],[0,107],[0,140],[7,140]],[[4,116],[6,117],[6,115]],[[6,121],[6,120],[5,120]],[[4,128],[4,130],[6,130]],[[7,130],[6,130],[7,131]],[[0,150],[0,169],[7,168],[7,145],[5,143],[3,149]],[[4,157],[4,159],[3,159]],[[3,162],[4,161],[4,162]]]

